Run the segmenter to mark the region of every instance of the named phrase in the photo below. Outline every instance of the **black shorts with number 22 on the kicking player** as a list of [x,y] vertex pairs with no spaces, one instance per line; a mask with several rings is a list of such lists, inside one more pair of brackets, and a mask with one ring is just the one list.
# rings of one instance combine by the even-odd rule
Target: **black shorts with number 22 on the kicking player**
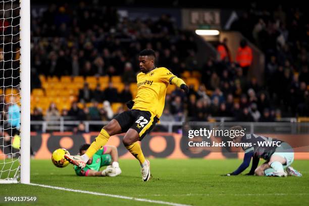
[[127,132],[130,128],[137,131],[139,140],[151,131],[159,119],[148,111],[129,110],[116,117],[122,132]]

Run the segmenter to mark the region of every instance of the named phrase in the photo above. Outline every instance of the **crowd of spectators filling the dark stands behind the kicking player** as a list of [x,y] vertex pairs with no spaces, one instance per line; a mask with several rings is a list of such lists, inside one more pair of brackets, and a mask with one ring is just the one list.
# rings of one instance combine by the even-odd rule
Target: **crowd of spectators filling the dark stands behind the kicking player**
[[[263,85],[254,77],[248,79],[246,68],[229,58],[209,59],[198,68],[193,33],[177,28],[168,15],[158,20],[121,19],[115,8],[80,2],[77,8],[50,5],[31,21],[32,88],[41,86],[39,74],[120,75],[129,84],[136,81],[140,50],[152,48],[156,50],[157,65],[175,75],[181,76],[184,71],[200,73],[197,90],[191,85],[188,95],[176,89],[166,96],[162,121],[233,117],[236,121],[271,122],[281,117],[309,116],[309,24],[304,23],[307,19],[298,10],[286,13],[279,7],[260,12],[252,8],[232,25],[265,53]],[[103,91],[99,88],[91,90],[85,84],[79,91],[78,102],[92,101],[92,107],[80,109],[78,102],[73,102],[70,110],[58,111],[57,105],[51,104],[45,118],[110,120],[116,115],[111,110],[113,102],[132,99],[128,85],[122,93],[112,83]],[[98,102],[104,102],[104,107],[98,108]],[[120,107],[117,113],[123,110]],[[31,120],[42,119],[42,111],[35,108]]]

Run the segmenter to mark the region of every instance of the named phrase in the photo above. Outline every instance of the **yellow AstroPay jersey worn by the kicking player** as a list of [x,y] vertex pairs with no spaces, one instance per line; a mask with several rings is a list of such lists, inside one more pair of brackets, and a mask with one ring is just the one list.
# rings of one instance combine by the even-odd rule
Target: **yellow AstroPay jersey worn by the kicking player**
[[164,109],[166,89],[171,79],[176,77],[165,67],[137,75],[137,94],[132,109],[149,111],[161,117]]

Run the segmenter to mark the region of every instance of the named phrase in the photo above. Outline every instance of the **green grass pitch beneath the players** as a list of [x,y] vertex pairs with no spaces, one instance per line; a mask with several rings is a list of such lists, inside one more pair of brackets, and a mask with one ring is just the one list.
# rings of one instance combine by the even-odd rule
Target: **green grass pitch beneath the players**
[[[31,160],[31,182],[192,205],[309,205],[309,161],[293,163],[301,178],[220,176],[236,169],[241,160],[153,159],[150,163],[153,178],[142,182],[136,160],[120,160],[122,174],[114,178],[78,177],[71,165],[57,168],[50,160]],[[38,198],[27,205],[159,205],[23,184],[0,185],[0,196]]]

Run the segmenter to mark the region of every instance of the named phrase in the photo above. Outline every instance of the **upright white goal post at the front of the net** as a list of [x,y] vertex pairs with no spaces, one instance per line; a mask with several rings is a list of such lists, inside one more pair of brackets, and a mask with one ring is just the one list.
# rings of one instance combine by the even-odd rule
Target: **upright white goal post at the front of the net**
[[30,183],[30,0],[20,1],[20,182]]

